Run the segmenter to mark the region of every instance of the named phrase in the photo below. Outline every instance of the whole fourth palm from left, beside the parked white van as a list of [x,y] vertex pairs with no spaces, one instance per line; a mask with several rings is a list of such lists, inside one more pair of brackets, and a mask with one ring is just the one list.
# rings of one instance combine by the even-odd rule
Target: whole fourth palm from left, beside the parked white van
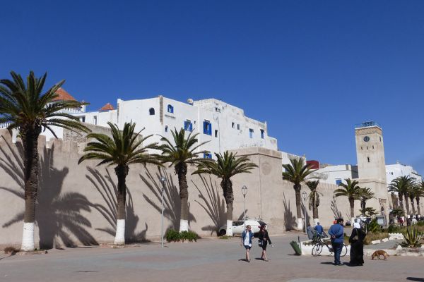
[[225,202],[227,204],[227,232],[232,236],[232,202],[234,192],[232,191],[231,177],[239,173],[251,173],[258,166],[250,162],[248,157],[236,157],[236,154],[225,151],[224,154],[215,154],[217,161],[201,164],[193,174],[208,173],[221,178],[220,186],[223,188]]

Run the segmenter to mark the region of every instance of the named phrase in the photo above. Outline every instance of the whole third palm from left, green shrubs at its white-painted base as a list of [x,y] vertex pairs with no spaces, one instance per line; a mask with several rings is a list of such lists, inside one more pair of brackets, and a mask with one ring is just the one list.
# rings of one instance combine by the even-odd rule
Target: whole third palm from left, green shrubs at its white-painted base
[[175,166],[175,174],[178,176],[179,198],[181,199],[179,232],[182,232],[189,230],[189,185],[187,184],[188,165],[200,165],[205,161],[210,160],[199,157],[199,154],[204,154],[205,152],[196,152],[199,147],[207,143],[202,142],[199,145],[196,145],[198,142],[197,135],[199,135],[199,133],[192,135],[192,132],[190,132],[187,138],[185,137],[185,131],[183,128],[179,131],[175,128],[174,130],[171,130],[171,133],[173,142],[162,136],[160,140],[164,143],[163,145],[160,145],[159,149],[162,151],[162,162],[164,164],[169,163],[170,166]]

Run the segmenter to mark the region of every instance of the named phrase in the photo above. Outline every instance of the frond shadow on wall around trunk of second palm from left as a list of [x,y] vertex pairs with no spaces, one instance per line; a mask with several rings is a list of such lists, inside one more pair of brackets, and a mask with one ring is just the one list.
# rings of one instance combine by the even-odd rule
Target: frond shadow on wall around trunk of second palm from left
[[[106,169],[106,175],[102,175],[97,169],[87,166],[90,175],[86,178],[93,183],[93,186],[98,190],[100,196],[105,201],[105,206],[102,204],[92,204],[91,207],[96,209],[110,226],[105,228],[95,228],[98,231],[103,231],[112,236],[115,235],[117,229],[117,184],[112,180],[110,171]],[[134,201],[130,190],[127,188],[128,201],[126,201],[126,221],[125,221],[125,241],[126,243],[141,243],[147,242],[146,233],[148,225],[145,223],[146,229],[141,232],[136,232],[139,216],[134,213]]]

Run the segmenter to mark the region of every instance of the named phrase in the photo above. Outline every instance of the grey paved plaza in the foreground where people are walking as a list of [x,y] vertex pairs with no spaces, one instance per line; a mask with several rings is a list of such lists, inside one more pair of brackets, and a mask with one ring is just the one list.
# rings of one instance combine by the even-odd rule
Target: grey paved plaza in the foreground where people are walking
[[[360,267],[333,266],[332,257],[295,256],[289,243],[301,233],[273,236],[269,262],[257,241],[252,262],[242,260],[240,240],[202,239],[197,243],[147,243],[134,247],[77,247],[47,255],[0,259],[0,281],[424,281],[423,257],[365,258]],[[348,257],[342,262],[348,262]]]

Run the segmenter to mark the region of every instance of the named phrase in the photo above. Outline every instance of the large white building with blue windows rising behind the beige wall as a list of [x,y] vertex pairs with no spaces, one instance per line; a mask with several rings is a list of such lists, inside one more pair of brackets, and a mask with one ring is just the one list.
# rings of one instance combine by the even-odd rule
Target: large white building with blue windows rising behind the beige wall
[[[69,94],[68,94],[69,95]],[[62,97],[73,99],[71,95]],[[277,140],[268,135],[266,122],[256,121],[245,116],[245,112],[217,99],[179,102],[158,96],[150,99],[117,100],[117,109],[106,104],[99,111],[77,111],[72,113],[81,121],[94,125],[107,126],[107,122],[124,123],[133,121],[136,130],[143,135],[153,135],[150,142],[159,142],[160,135],[172,138],[170,130],[184,128],[187,132],[199,133],[199,142],[207,142],[201,147],[207,151],[204,157],[213,157],[213,153],[242,147],[264,147],[277,150]],[[60,138],[61,128],[55,128]],[[47,139],[53,135],[43,133]]]

